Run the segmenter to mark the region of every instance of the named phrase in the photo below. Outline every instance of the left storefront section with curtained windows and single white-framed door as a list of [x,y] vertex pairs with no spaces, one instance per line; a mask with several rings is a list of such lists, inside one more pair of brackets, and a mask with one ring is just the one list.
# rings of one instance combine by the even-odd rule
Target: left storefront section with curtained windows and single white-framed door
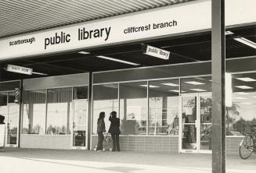
[[23,80],[20,147],[87,149],[88,73]]

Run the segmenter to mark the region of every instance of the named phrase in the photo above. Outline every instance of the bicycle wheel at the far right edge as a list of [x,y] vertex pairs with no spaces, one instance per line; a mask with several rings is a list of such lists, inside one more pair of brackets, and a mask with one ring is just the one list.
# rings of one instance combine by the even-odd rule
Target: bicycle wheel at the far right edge
[[252,136],[244,136],[239,145],[239,155],[242,159],[247,159],[254,151],[254,141]]

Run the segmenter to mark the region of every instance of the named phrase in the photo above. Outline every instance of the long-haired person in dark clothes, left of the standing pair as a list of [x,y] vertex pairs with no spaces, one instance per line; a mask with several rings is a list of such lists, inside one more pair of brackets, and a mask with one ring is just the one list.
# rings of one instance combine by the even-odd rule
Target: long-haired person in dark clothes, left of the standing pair
[[97,122],[98,145],[96,150],[103,150],[103,132],[106,132],[104,118],[105,112],[102,111],[99,113],[99,118]]

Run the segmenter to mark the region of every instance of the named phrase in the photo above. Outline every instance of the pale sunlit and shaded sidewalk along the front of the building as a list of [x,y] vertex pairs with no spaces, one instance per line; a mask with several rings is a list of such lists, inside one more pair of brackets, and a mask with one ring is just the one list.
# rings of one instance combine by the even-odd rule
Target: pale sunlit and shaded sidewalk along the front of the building
[[[7,149],[0,153],[1,173],[28,172],[211,172],[210,154],[96,152],[88,150]],[[253,173],[256,156],[227,157],[229,173]]]

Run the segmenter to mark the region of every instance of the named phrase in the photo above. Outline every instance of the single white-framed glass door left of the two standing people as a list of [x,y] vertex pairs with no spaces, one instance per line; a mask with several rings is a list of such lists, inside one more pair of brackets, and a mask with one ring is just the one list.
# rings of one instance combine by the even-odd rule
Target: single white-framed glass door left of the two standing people
[[88,100],[73,101],[72,148],[86,149],[88,139]]

